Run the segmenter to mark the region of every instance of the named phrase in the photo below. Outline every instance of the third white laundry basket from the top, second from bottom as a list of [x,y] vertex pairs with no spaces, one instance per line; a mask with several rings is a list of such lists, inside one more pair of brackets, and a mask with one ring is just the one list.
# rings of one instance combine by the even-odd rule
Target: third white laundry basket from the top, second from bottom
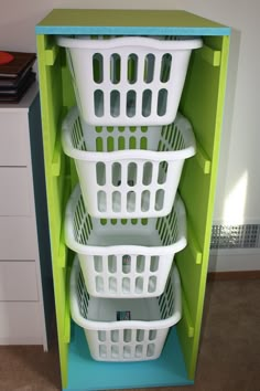
[[159,219],[91,219],[77,186],[66,208],[65,242],[78,254],[91,296],[154,297],[186,246],[184,204],[177,196],[171,214]]

